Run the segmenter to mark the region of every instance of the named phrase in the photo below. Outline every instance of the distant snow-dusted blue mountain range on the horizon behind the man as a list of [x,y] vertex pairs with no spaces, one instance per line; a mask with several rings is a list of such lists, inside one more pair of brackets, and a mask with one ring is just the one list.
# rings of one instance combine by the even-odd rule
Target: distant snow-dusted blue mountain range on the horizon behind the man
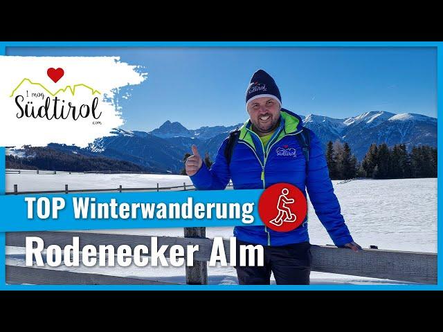
[[[421,114],[371,111],[344,119],[314,114],[301,118],[305,127],[316,133],[324,147],[329,140],[347,142],[359,160],[372,143],[379,145],[386,142],[389,147],[404,143],[408,149],[418,145],[437,147],[437,119]],[[183,156],[191,152],[192,144],[214,160],[229,131],[241,126],[242,123],[187,129],[179,122],[168,120],[149,132],[114,129],[110,136],[98,138],[82,149],[56,143],[49,144],[48,148],[66,154],[125,160],[150,172],[176,174],[183,169]]]

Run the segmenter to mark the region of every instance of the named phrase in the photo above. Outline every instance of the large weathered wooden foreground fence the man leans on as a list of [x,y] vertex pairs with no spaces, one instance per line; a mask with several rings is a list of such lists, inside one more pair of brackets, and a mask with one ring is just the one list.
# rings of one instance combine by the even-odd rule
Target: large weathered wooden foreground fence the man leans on
[[[147,235],[100,234],[82,232],[8,232],[6,246],[24,247],[26,237],[40,237],[44,248],[51,244],[64,247],[79,237],[80,250],[87,244],[114,247],[126,244],[134,250],[143,244],[150,248],[151,237]],[[207,261],[213,247],[213,239],[205,237],[205,228],[185,228],[185,237],[157,237],[157,246],[199,245],[194,255],[194,266],[186,266],[186,284],[207,284]],[[224,240],[225,252],[230,252],[229,241]],[[395,250],[364,249],[353,252],[334,246],[311,246],[312,270],[341,275],[355,275],[378,279],[390,279],[420,284],[437,284],[437,254],[432,252],[406,252]],[[229,260],[229,257],[226,257]],[[167,284],[146,279],[111,277],[88,273],[74,273],[42,268],[6,266],[8,284]]]

